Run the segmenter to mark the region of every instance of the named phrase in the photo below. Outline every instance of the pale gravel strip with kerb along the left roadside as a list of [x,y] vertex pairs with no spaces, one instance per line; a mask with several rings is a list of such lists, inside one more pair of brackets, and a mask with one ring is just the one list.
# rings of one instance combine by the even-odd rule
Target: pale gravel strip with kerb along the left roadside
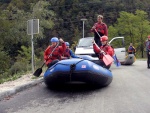
[[34,78],[32,74],[23,75],[14,81],[4,82],[3,84],[0,84],[0,100],[4,98],[9,99],[11,95],[41,82],[43,82],[42,76]]

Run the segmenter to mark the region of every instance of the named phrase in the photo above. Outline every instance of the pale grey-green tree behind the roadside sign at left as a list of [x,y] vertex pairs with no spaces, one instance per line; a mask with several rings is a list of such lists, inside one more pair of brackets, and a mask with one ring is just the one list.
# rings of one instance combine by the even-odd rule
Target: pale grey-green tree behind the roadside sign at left
[[[40,20],[40,33],[34,35],[35,49],[38,49],[37,45],[39,42],[37,39],[47,37],[46,32],[54,26],[52,18],[54,18],[55,13],[49,10],[49,6],[49,2],[42,0],[34,0],[30,3],[12,0],[2,11],[0,11],[0,47],[2,51],[8,53],[7,55],[11,58],[11,65],[13,66],[13,64],[15,64],[13,69],[14,67],[20,67],[18,65],[22,65],[18,63],[22,47],[29,48],[31,46],[30,37],[27,35],[26,31],[27,20],[32,18]],[[28,10],[26,10],[27,8]],[[25,63],[28,59],[22,57],[20,61]],[[27,63],[29,63],[29,61],[25,64]]]

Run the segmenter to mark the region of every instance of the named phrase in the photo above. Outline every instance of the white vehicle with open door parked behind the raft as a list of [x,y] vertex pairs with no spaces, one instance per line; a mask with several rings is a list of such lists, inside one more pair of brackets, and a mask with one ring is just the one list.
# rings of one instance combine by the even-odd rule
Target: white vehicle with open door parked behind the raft
[[[92,57],[93,60],[98,60],[98,57],[93,51],[93,40],[94,37],[86,37],[79,39],[79,42],[75,49],[75,54],[79,56],[89,55]],[[124,37],[114,37],[109,41],[109,44],[114,48],[118,60],[120,62],[125,62],[126,48],[124,45]]]

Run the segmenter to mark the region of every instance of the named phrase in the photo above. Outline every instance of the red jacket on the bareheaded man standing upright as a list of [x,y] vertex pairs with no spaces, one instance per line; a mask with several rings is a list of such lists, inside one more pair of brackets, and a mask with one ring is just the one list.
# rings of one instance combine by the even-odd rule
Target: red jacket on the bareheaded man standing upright
[[[108,36],[108,29],[107,29],[107,25],[105,23],[95,23],[94,26],[96,27],[95,29],[97,30],[97,32]],[[95,32],[94,29],[91,29],[91,32]]]

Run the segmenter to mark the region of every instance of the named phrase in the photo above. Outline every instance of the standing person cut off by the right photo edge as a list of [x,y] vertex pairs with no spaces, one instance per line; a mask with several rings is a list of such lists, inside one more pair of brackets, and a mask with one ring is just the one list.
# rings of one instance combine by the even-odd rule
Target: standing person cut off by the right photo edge
[[147,53],[147,68],[150,69],[150,35],[147,38],[148,40],[145,43]]

